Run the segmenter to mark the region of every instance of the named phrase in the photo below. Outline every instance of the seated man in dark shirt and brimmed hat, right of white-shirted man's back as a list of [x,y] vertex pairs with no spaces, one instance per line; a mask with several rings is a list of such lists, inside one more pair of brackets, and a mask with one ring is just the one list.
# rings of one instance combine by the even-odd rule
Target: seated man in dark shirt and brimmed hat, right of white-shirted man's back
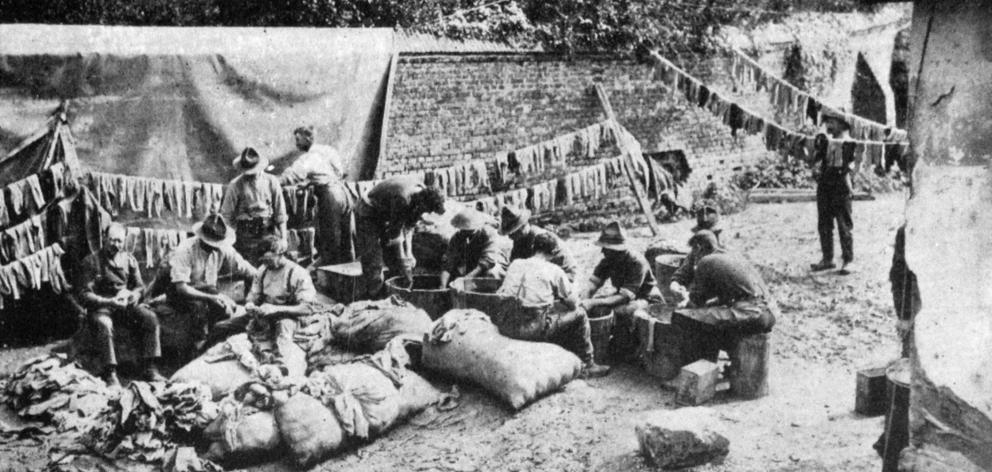
[[[634,312],[646,310],[649,304],[664,301],[664,298],[655,284],[648,261],[627,247],[627,235],[620,223],[614,221],[607,225],[596,245],[603,248],[603,259],[593,270],[589,287],[581,294],[581,306],[595,318],[613,312],[611,349],[619,356],[628,357],[636,347]],[[616,292],[595,296],[607,280]]]

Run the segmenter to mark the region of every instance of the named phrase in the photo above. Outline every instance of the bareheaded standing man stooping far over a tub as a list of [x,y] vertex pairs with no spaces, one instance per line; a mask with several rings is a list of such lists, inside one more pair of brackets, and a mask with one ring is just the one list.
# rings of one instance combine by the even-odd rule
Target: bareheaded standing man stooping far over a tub
[[413,227],[424,213],[444,213],[444,196],[413,177],[378,183],[355,205],[355,256],[362,263],[359,299],[383,295],[383,266],[413,283]]

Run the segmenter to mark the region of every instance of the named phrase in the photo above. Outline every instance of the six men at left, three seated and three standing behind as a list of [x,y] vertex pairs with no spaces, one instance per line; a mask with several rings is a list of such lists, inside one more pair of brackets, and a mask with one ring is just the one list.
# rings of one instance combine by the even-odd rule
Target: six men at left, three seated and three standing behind
[[[367,195],[354,195],[343,183],[340,157],[333,148],[314,144],[313,131],[294,131],[297,158],[282,177],[265,172],[268,161],[245,148],[233,162],[240,174],[227,186],[219,212],[193,226],[194,236],[170,254],[155,285],[164,286],[165,306],[189,314],[202,328],[199,346],[206,349],[251,323],[271,324],[280,340],[290,339],[295,319],[310,313],[316,291],[310,273],[290,257],[283,184],[306,181],[317,198],[315,264],[358,258],[363,266],[363,293],[383,294],[384,266],[412,270],[410,238],[425,212],[441,213],[444,198],[411,179],[388,179]],[[355,234],[351,234],[351,219]],[[348,222],[349,224],[345,224]],[[86,257],[75,286],[97,333],[103,378],[119,384],[115,333],[136,331],[147,379],[161,380],[161,328],[145,303],[145,284],[134,256],[124,250],[125,228],[105,230],[101,249]],[[243,281],[250,287],[244,306],[222,290],[221,282]]]

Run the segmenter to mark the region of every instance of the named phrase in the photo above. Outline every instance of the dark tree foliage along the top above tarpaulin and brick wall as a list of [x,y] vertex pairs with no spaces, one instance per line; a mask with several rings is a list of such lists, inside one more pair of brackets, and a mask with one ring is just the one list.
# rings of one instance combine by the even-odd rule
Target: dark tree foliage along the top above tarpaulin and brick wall
[[0,22],[172,26],[397,27],[561,52],[671,57],[706,52],[724,25],[796,10],[850,11],[857,0],[0,0]]

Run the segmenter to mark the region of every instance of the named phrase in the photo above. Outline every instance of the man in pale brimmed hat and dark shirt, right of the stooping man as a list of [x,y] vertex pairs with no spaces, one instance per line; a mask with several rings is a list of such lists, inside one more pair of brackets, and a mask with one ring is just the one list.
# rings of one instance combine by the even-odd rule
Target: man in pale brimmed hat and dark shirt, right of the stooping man
[[499,244],[496,229],[489,226],[489,216],[473,208],[465,208],[451,218],[458,231],[448,242],[441,271],[441,286],[447,287],[453,278],[502,278],[506,270],[506,253]]

